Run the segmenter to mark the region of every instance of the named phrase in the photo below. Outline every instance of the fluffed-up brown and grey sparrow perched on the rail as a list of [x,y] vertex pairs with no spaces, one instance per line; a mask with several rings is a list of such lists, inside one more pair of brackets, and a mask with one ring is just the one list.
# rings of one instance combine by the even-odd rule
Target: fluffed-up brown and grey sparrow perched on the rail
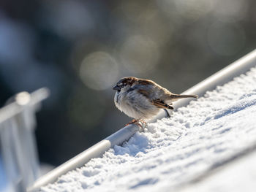
[[152,80],[136,77],[122,78],[113,90],[116,90],[114,99],[116,107],[130,118],[135,118],[132,123],[151,119],[160,109],[173,110],[171,104],[178,99],[198,97],[174,94]]

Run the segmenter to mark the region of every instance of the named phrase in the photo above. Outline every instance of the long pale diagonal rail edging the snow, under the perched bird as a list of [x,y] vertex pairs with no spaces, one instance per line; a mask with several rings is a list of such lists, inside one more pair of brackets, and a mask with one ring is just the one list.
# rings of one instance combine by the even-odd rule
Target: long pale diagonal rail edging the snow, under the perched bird
[[[189,88],[189,90],[185,91],[183,94],[197,94],[198,96],[203,96],[206,91],[211,91],[217,87],[217,85],[223,85],[225,82],[228,82],[233,79],[233,77],[237,77],[239,74],[243,74],[247,72],[250,68],[256,66],[256,50],[253,50],[251,53],[248,53],[244,57],[238,59],[233,64],[225,67],[219,72],[211,75],[206,80],[199,82],[197,85]],[[177,109],[178,107],[186,106],[191,99],[182,99],[173,103],[173,107]],[[162,110],[159,114],[150,120],[149,122],[154,122],[157,119],[167,117],[167,113]],[[121,128],[116,133],[110,135],[106,139],[98,142],[96,145],[89,147],[89,149],[83,151],[82,153],[76,155],[74,158],[70,159],[61,166],[58,166],[56,169],[53,169],[48,174],[40,177],[34,185],[28,188],[28,191],[37,191],[43,185],[47,185],[48,183],[53,183],[57,180],[59,176],[65,174],[75,168],[83,166],[91,158],[100,157],[105,151],[109,150],[114,145],[120,145],[122,142],[128,140],[139,131],[139,127],[135,125],[129,125],[124,128]]]

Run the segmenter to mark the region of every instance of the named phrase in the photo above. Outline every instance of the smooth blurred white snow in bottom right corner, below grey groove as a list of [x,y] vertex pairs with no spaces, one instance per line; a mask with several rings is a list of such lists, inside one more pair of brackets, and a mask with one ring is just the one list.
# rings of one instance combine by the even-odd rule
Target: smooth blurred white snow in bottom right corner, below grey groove
[[[227,164],[222,170],[211,174],[198,183],[192,183],[177,192],[227,192],[255,191],[256,189],[256,152],[238,161]],[[227,185],[228,184],[228,185]]]

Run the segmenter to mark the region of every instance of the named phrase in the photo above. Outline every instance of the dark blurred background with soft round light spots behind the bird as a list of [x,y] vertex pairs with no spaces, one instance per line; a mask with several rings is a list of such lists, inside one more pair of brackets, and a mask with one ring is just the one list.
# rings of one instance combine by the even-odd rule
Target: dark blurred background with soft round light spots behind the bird
[[50,88],[37,114],[42,163],[58,166],[129,122],[124,76],[186,91],[255,49],[254,0],[1,0],[0,104]]

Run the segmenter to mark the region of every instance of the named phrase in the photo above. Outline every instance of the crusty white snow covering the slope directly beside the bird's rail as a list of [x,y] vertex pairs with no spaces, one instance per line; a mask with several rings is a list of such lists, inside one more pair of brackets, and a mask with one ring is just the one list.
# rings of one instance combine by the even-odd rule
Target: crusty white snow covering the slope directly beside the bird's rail
[[[254,68],[181,107],[171,118],[149,123],[145,132],[135,134],[124,145],[115,146],[102,158],[92,159],[41,190],[189,191],[193,185],[187,185],[189,181],[255,145],[255,114]],[[195,187],[201,191],[241,191],[246,183],[246,188],[253,191],[255,158],[253,155],[236,163],[238,166],[220,169],[214,173],[219,177],[206,177]],[[234,174],[236,179],[230,180]],[[233,181],[240,188],[234,188]]]

